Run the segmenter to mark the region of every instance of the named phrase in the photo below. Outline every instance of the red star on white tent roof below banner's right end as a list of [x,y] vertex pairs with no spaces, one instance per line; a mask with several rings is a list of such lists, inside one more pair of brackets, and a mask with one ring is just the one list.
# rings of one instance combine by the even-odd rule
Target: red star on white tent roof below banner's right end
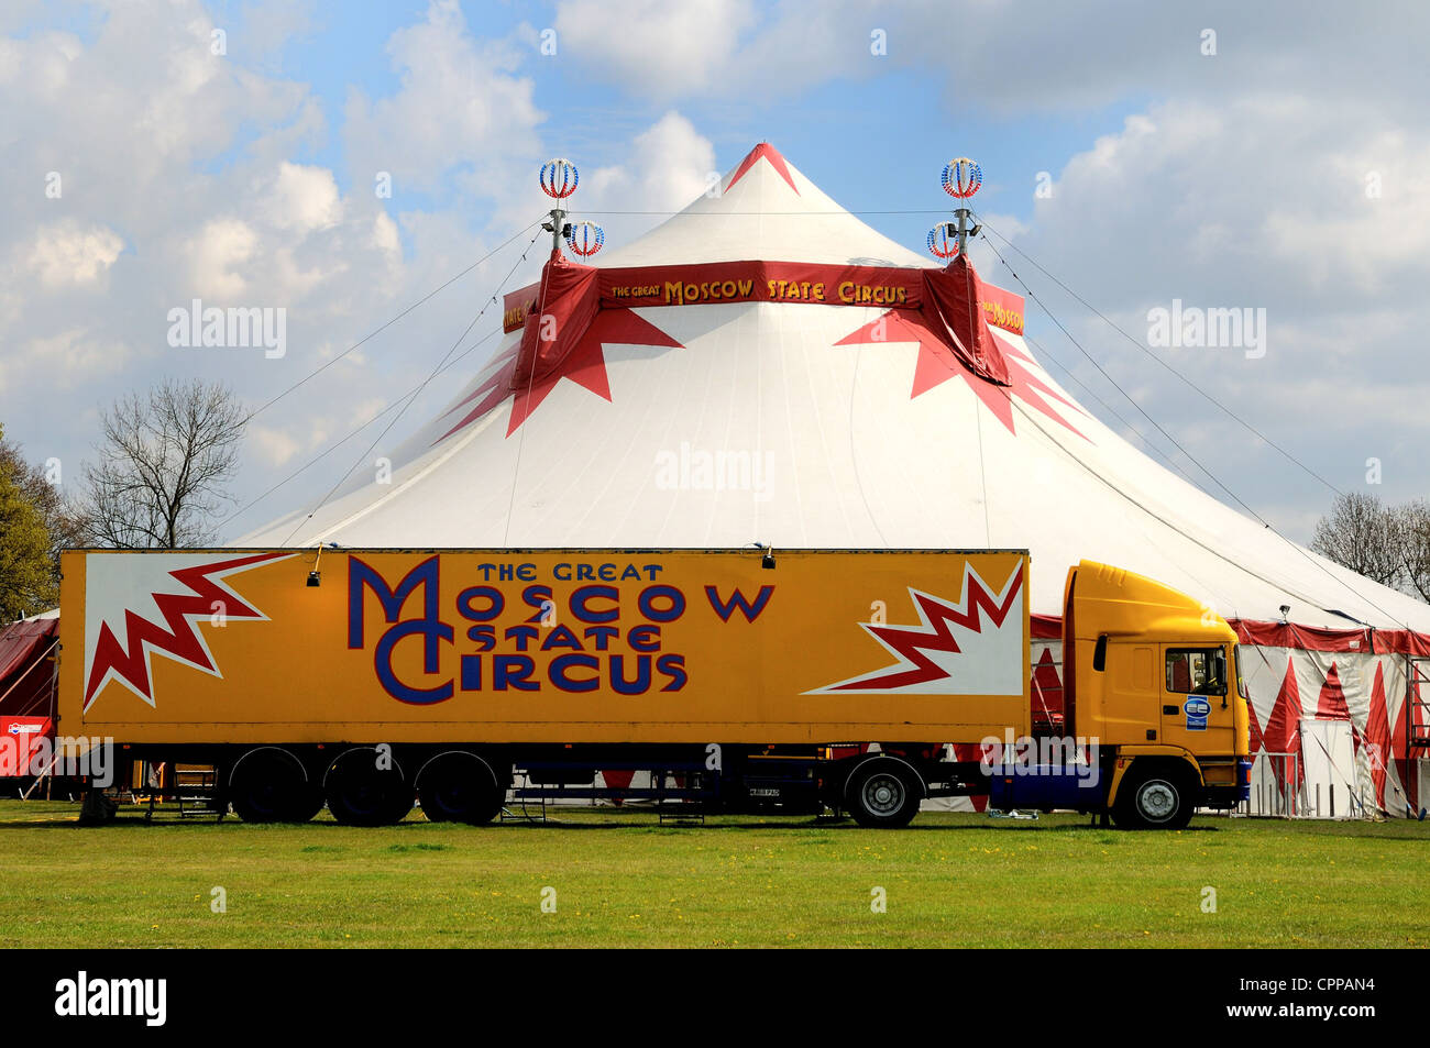
[[[994,335],[998,339],[997,335]],[[914,309],[891,309],[882,316],[859,327],[852,335],[839,339],[837,346],[867,346],[882,342],[917,342],[918,362],[914,365],[914,389],[909,399],[927,393],[950,379],[962,379],[968,387],[982,400],[984,406],[992,412],[1010,433],[1017,433],[1012,423],[1012,399],[1018,397],[1037,412],[1041,412],[1064,429],[1087,440],[1088,438],[1071,422],[1057,412],[1050,400],[1057,400],[1070,410],[1084,415],[1083,409],[1067,397],[1058,396],[1052,387],[1042,382],[1032,357],[1015,349],[1005,339],[998,339],[998,347],[1008,362],[1008,386],[998,386],[978,377],[960,363],[954,350],[935,335],[924,322],[922,315]],[[1011,395],[1011,396],[1010,396]]]

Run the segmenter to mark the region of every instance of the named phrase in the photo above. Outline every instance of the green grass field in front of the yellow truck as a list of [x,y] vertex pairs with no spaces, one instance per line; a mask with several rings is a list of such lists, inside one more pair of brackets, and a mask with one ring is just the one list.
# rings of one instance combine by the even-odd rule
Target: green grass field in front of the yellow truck
[[[922,814],[659,825],[74,825],[0,801],[10,946],[1424,946],[1430,822],[1181,832]],[[1203,889],[1217,912],[1203,912]],[[226,912],[214,914],[223,888]],[[542,912],[543,889],[555,912]],[[887,912],[871,909],[882,888]],[[548,896],[551,892],[548,892]]]

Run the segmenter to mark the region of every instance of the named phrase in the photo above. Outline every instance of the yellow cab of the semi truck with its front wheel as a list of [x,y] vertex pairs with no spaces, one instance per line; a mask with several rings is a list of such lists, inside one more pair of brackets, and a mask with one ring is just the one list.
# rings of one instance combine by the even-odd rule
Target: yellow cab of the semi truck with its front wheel
[[1175,589],[1084,560],[1062,619],[1068,733],[1095,739],[1118,825],[1184,826],[1250,783],[1237,636]]

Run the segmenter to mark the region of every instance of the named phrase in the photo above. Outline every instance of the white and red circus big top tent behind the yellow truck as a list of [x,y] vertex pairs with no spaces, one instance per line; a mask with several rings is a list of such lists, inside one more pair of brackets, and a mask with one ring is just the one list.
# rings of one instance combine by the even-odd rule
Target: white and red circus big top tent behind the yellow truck
[[1281,788],[1314,763],[1369,809],[1420,809],[1430,608],[1134,449],[1030,352],[1022,297],[869,229],[774,147],[599,266],[553,252],[506,306],[390,479],[235,545],[1027,548],[1048,715],[1067,568],[1104,560],[1233,622],[1253,748],[1303,758],[1268,765]]

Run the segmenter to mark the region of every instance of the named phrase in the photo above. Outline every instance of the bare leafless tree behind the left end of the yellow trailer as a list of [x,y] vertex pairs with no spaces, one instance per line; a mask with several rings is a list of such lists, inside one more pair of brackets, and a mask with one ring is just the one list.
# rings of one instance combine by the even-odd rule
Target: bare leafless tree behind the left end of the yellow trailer
[[220,383],[163,382],[102,416],[84,468],[86,539],[114,549],[202,546],[237,472],[243,407]]

